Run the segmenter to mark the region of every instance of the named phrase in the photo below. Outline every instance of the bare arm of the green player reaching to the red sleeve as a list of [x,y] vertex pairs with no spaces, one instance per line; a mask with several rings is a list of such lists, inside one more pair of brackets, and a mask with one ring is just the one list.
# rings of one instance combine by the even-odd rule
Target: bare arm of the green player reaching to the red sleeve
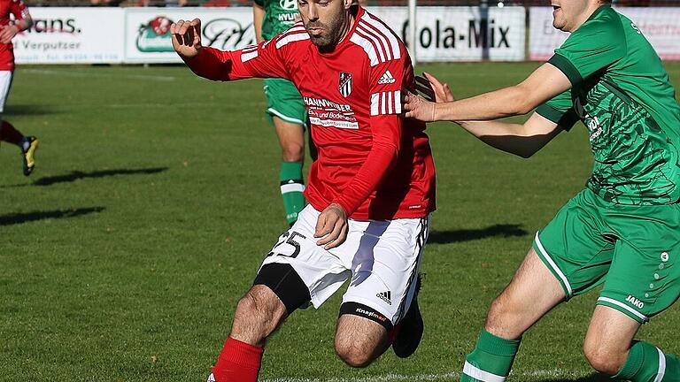
[[409,93],[404,99],[404,110],[406,117],[425,122],[491,120],[527,114],[568,88],[571,88],[568,77],[555,66],[544,64],[518,85],[460,101],[432,103]]

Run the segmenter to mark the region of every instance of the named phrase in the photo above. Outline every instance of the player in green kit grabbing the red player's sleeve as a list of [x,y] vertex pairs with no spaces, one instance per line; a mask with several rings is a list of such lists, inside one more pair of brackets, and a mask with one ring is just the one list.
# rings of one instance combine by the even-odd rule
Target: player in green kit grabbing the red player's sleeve
[[[406,117],[455,121],[522,157],[580,119],[595,158],[586,187],[536,234],[492,302],[461,381],[504,381],[522,334],[602,283],[583,344],[592,367],[615,379],[680,380],[675,355],[634,340],[680,296],[680,107],[645,36],[607,3],[552,0],[553,27],[568,40],[516,86],[454,101],[428,75],[437,103],[406,95]],[[534,109],[524,124],[494,120]]]

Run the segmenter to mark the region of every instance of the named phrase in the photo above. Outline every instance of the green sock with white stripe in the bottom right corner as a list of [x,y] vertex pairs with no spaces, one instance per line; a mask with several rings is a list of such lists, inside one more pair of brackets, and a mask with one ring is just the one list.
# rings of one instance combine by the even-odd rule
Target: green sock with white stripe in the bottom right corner
[[665,355],[659,348],[635,340],[626,363],[612,379],[633,382],[680,381],[680,361],[675,355]]

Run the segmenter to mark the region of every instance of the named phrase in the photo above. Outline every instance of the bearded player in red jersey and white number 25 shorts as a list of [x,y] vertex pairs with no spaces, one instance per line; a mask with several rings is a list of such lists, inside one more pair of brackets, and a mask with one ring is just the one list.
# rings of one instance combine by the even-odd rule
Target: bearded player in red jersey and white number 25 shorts
[[305,189],[310,204],[238,302],[209,379],[217,382],[256,381],[267,337],[347,279],[335,340],[345,363],[367,366],[390,345],[406,357],[421,340],[416,295],[435,167],[425,125],[402,116],[401,89],[414,86],[410,57],[352,0],[298,0],[298,8],[300,22],[243,50],[201,46],[198,19],[171,27],[174,49],[201,77],[292,81],[318,148]]

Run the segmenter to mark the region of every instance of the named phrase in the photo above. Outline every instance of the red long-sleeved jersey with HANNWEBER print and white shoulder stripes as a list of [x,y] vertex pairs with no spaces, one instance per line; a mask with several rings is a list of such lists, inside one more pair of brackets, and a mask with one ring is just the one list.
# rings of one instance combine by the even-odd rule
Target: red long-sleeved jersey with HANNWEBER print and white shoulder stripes
[[413,88],[406,46],[359,8],[352,29],[321,53],[302,22],[243,50],[203,48],[187,65],[211,80],[277,77],[303,96],[319,157],[305,197],[317,210],[339,203],[350,218],[421,218],[435,210],[435,165],[425,124],[401,114]]

